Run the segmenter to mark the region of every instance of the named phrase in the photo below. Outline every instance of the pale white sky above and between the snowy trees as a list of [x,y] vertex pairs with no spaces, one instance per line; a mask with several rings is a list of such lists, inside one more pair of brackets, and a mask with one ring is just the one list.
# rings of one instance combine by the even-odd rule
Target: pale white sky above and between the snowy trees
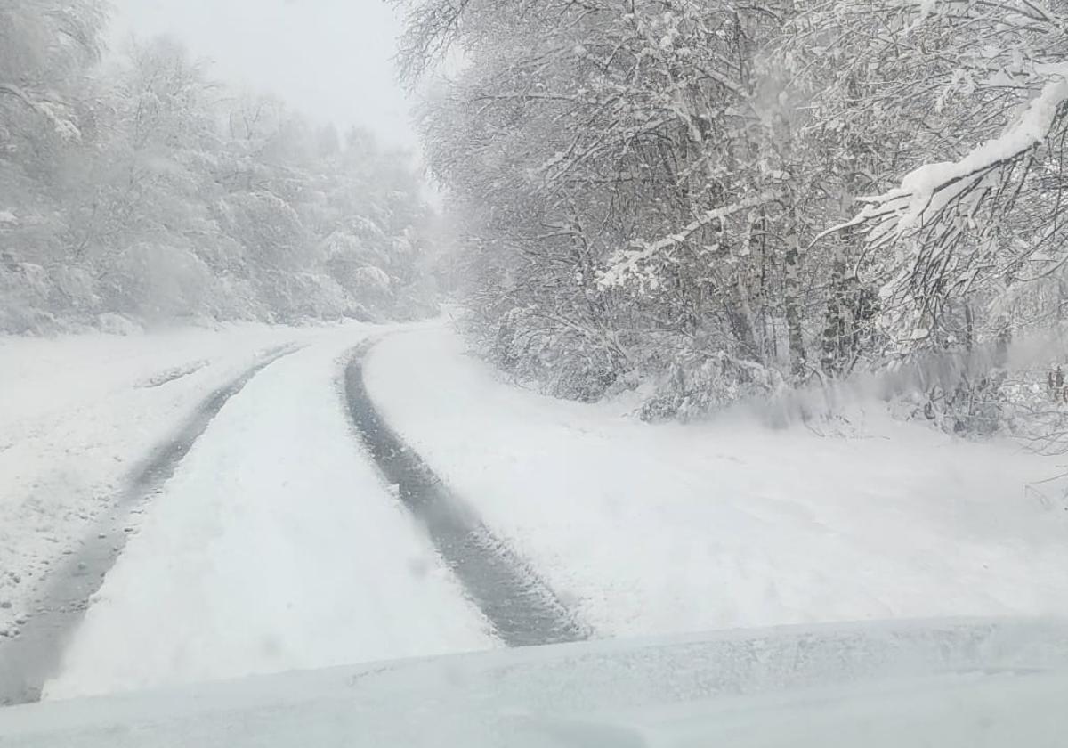
[[216,79],[273,93],[340,129],[414,147],[393,64],[400,21],[383,0],[112,0],[111,37],[167,33],[214,63]]

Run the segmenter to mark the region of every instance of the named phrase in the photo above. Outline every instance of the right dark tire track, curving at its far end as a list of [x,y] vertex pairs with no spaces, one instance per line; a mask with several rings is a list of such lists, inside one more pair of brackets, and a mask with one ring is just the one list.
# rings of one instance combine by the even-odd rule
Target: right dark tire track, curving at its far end
[[438,552],[501,641],[528,646],[590,638],[590,628],[387,424],[363,380],[363,361],[372,345],[373,341],[358,346],[345,370],[352,423],[388,483],[426,527]]

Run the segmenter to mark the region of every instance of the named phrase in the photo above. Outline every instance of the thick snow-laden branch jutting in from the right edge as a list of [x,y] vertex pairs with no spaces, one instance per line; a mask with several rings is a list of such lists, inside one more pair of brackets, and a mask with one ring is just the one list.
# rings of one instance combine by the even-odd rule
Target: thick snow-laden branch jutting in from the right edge
[[[985,191],[974,188],[1002,167],[1016,163],[1040,145],[1050,136],[1062,107],[1068,103],[1068,64],[1050,66],[1042,72],[1049,76],[1046,85],[1002,135],[976,146],[958,161],[920,167],[889,192],[860,198],[865,206],[855,218],[824,234],[867,223],[871,227],[868,240],[883,245],[938,220],[954,200],[968,203],[969,191],[975,200],[980,200]],[[970,213],[964,211],[964,214]]]

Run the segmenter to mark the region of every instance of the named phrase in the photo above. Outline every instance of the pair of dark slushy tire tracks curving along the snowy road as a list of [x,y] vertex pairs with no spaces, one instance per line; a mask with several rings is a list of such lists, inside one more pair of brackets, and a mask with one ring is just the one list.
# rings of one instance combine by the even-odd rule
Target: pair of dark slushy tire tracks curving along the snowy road
[[[351,354],[345,369],[345,400],[351,422],[379,471],[427,534],[468,597],[507,646],[529,646],[590,638],[591,630],[511,546],[477,514],[449,492],[423,459],[387,424],[367,394],[363,361],[376,341]],[[37,610],[22,632],[0,641],[0,707],[38,701],[58,674],[65,645],[89,609],[92,596],[114,565],[129,536],[129,517],[162,493],[193,443],[226,402],[251,379],[302,346],[268,350],[251,368],[204,400],[177,434],[158,447],[130,476],[112,516],[101,520],[79,551],[49,575]]]

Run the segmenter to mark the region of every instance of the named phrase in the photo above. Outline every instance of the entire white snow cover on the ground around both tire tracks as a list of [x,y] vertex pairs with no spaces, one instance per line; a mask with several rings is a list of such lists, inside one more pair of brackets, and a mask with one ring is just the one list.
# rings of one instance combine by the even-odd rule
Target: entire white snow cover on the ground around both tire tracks
[[[303,346],[226,401],[144,504],[47,698],[502,645],[464,559],[435,548],[348,420],[344,371],[367,334],[107,339],[103,355],[90,339],[80,374],[47,365],[69,368],[79,341],[12,343],[38,363],[0,371],[25,393],[3,403],[14,438],[0,464],[28,459],[3,477],[0,561],[35,574],[77,550],[130,465],[213,388],[265,348]],[[142,350],[109,365],[108,346]],[[505,384],[442,326],[387,337],[363,375],[417,468],[472,510],[460,534],[484,525],[597,636],[1068,614],[1068,523],[1022,490],[1056,461],[896,423],[881,406],[864,438],[745,419],[649,426],[618,403]]]

